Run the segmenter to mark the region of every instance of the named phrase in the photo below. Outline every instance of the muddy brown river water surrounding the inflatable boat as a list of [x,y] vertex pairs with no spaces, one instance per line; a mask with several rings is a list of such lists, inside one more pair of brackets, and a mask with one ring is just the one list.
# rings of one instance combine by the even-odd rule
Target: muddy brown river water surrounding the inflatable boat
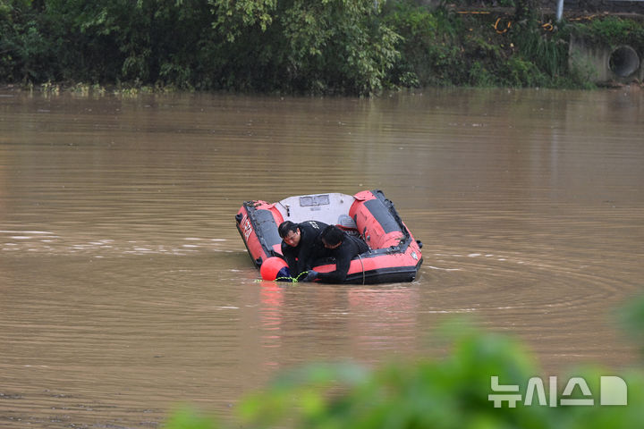
[[[542,374],[633,365],[644,95],[425,90],[377,99],[0,92],[0,426],[229,415],[284,368],[436,352],[454,315]],[[242,201],[382,189],[415,282],[258,282]]]

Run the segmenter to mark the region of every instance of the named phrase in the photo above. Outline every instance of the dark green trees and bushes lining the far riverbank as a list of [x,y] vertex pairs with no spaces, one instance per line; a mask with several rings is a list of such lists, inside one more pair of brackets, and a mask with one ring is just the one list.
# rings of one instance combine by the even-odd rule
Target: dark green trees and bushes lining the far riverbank
[[587,74],[568,66],[572,32],[644,46],[640,23],[555,25],[534,0],[503,0],[494,13],[465,7],[466,0],[420,3],[2,0],[0,82],[343,95],[587,88]]

